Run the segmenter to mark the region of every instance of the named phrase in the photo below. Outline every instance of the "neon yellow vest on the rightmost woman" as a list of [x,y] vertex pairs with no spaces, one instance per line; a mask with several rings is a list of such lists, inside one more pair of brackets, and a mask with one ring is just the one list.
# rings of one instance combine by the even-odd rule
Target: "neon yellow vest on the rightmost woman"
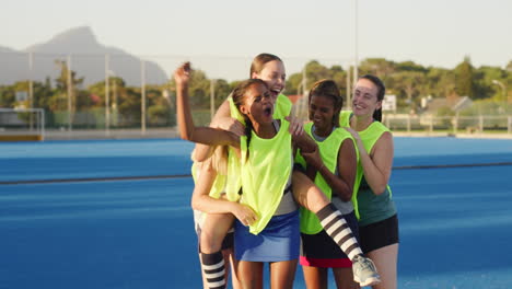
[[[352,115],[351,111],[341,112],[339,114],[339,125],[341,127],[350,127],[351,115]],[[359,137],[361,138],[361,141],[368,154],[370,154],[373,146],[375,146],[375,142],[379,140],[382,134],[386,131],[389,131],[389,129],[385,127],[381,122],[373,122],[366,129],[362,131],[358,131]],[[358,149],[358,147],[356,147],[356,149]],[[362,169],[361,161],[358,160],[358,172],[356,175],[356,184],[353,186],[353,194],[352,194],[353,209],[356,211],[356,216],[358,217],[358,219],[360,218],[359,207],[358,207],[358,190],[359,190],[359,185],[361,184],[361,180],[363,175],[364,175],[364,171]],[[387,185],[387,189],[389,190],[389,194],[391,194],[389,185]]]

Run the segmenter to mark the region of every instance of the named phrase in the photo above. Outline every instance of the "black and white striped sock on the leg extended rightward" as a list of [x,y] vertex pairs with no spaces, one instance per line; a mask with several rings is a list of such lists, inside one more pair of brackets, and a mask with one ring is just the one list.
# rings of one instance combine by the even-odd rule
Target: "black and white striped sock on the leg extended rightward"
[[358,240],[344,218],[344,215],[329,203],[322,208],[316,216],[327,234],[338,244],[350,261],[357,255],[362,255]]

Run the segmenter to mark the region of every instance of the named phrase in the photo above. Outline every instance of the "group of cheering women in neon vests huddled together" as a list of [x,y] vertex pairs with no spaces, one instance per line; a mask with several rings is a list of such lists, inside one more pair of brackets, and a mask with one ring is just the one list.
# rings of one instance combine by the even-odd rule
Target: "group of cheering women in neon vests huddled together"
[[[385,88],[361,77],[352,111],[334,81],[310,90],[310,120],[293,117],[275,55],[256,56],[251,79],[196,127],[188,104],[190,65],[175,74],[182,138],[193,153],[191,205],[205,288],[292,288],[296,264],[307,288],[396,288],[398,222],[387,185],[393,137],[381,124]],[[372,262],[373,261],[373,262]],[[377,273],[379,271],[379,273]]]

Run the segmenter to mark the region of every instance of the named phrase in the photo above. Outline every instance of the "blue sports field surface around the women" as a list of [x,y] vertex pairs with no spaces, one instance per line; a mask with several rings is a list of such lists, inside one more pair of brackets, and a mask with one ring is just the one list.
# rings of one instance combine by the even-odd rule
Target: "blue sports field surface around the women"
[[[0,288],[201,288],[191,149],[0,143]],[[512,140],[395,138],[391,186],[398,288],[512,288]]]

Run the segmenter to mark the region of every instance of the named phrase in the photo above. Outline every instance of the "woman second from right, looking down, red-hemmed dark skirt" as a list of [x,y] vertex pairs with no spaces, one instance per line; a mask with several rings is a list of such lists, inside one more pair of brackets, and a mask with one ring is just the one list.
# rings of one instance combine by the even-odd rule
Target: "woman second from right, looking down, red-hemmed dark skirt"
[[[358,158],[352,136],[339,127],[344,99],[333,80],[317,81],[309,94],[311,123],[304,125],[304,131],[316,141],[318,150],[301,152],[295,162],[306,165],[307,174],[344,213],[347,224],[359,238],[351,201]],[[338,289],[359,288],[353,281],[350,258],[329,238],[318,218],[305,208],[301,208],[301,239],[300,263],[307,288],[327,288],[329,268]]]

